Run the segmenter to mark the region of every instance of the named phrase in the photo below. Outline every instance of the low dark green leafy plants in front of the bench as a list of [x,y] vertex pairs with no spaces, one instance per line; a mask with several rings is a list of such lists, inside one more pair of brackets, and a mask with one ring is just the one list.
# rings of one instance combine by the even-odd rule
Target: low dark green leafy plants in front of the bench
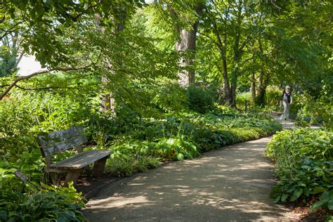
[[0,190],[0,221],[84,221],[81,193],[69,188],[27,185],[25,193]]

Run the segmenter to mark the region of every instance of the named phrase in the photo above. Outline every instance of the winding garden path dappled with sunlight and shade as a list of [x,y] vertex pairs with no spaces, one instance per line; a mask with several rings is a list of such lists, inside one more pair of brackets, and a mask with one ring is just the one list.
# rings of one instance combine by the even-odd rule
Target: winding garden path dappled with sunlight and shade
[[84,215],[89,221],[293,220],[269,197],[276,183],[264,155],[269,140],[230,145],[119,180],[89,200]]

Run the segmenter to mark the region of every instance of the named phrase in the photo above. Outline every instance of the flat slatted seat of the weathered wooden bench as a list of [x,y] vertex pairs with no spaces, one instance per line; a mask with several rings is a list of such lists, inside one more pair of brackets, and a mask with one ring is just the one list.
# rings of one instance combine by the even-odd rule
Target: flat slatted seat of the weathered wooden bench
[[85,152],[80,152],[78,155],[64,159],[56,164],[51,164],[49,167],[56,169],[82,169],[84,166],[88,166],[98,159],[107,157],[112,153],[112,150],[88,150]]

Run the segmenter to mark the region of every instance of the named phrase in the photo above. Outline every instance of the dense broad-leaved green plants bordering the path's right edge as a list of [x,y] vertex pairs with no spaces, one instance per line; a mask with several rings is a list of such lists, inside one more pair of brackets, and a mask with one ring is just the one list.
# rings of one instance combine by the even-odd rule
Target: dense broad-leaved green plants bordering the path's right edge
[[[275,202],[310,202],[333,215],[333,133],[313,129],[282,131],[273,136],[266,155],[275,162],[280,179],[272,190]],[[327,219],[332,219],[329,216]]]

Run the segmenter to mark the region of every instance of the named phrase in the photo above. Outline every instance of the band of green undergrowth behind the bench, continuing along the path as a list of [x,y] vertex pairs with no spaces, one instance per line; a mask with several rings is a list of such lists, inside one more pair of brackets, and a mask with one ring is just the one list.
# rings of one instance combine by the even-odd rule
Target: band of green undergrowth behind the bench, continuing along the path
[[[91,145],[111,148],[119,156],[133,162],[197,157],[223,145],[274,133],[280,129],[264,115],[245,115],[226,107],[215,107],[207,114],[187,112],[163,114],[155,107],[150,117],[122,107],[117,117],[98,110],[93,98],[86,100],[53,93],[32,93],[12,97],[1,103],[1,155],[6,169],[18,168],[40,180],[44,161],[35,138],[41,131],[58,131],[81,124]],[[188,102],[190,103],[190,102]],[[8,109],[10,107],[10,109]],[[140,111],[140,110],[139,110]],[[124,158],[124,159],[126,159]],[[151,159],[152,158],[152,159]],[[21,161],[24,159],[24,161]],[[20,164],[18,164],[18,162]],[[110,159],[112,162],[112,159]],[[154,166],[158,161],[153,161]],[[148,163],[149,165],[149,163]]]

